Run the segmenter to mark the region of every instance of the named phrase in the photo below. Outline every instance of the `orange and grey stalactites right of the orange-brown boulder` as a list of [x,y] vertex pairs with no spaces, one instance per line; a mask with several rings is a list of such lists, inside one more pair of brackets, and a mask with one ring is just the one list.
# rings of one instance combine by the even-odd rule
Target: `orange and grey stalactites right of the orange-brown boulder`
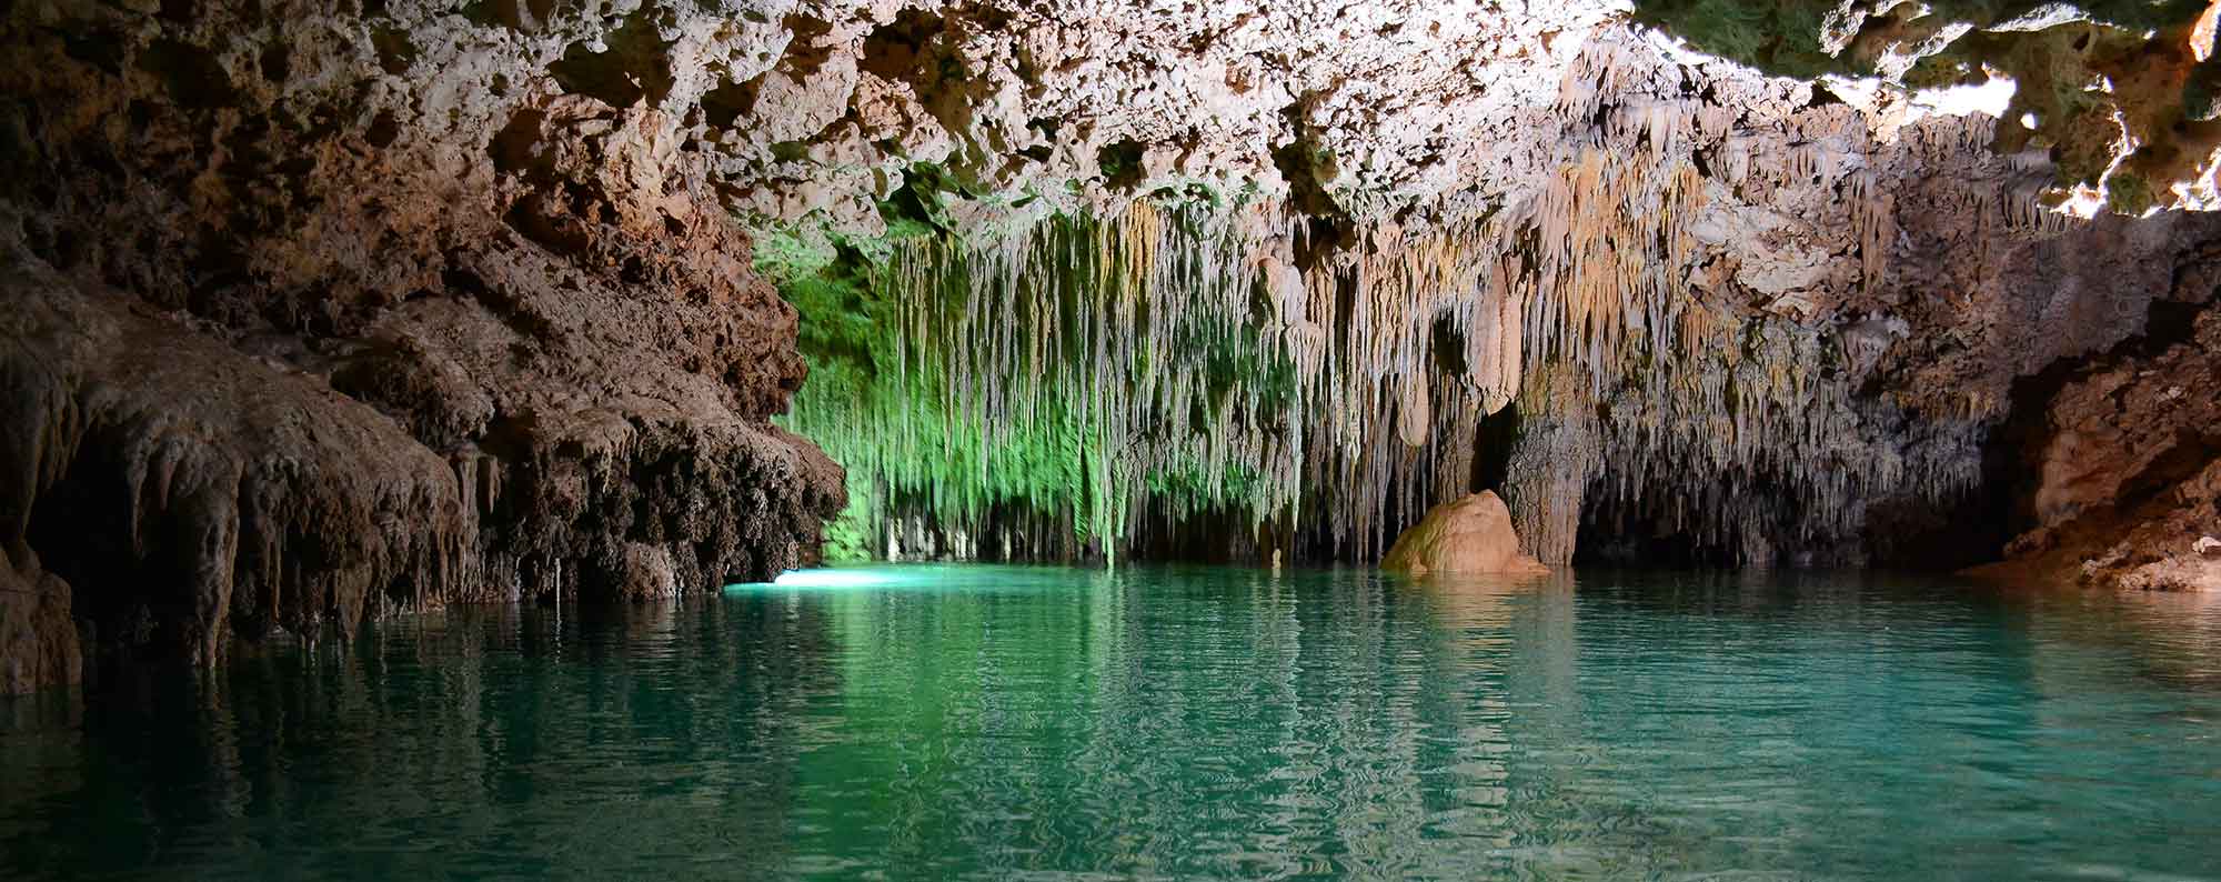
[[[1790,549],[1855,555],[1870,502],[1946,500],[1979,480],[1986,413],[1923,418],[1861,398],[1866,364],[1843,353],[1848,340],[1686,289],[1684,218],[1704,209],[1699,187],[1835,193],[1866,295],[1883,293],[1906,244],[1906,191],[1979,218],[1983,249],[2057,235],[2068,220],[2039,207],[2043,169],[1988,153],[1988,118],[1908,129],[1883,158],[1863,140],[1783,149],[1779,136],[1728,133],[1708,109],[1684,109],[1601,107],[1601,149],[1584,149],[1532,202],[1532,380],[1506,478],[1521,535],[1566,562],[1586,513],[1612,520],[1604,533],[1672,533],[1746,564]],[[1710,178],[1672,162],[1681,147]],[[1906,160],[1939,173],[1886,176]]]

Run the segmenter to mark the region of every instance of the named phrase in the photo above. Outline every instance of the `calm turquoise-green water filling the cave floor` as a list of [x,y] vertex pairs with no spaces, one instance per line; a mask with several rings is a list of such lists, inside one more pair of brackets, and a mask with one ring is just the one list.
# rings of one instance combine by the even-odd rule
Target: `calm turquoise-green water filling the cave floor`
[[2221,875],[2221,598],[806,582],[0,704],[0,878]]

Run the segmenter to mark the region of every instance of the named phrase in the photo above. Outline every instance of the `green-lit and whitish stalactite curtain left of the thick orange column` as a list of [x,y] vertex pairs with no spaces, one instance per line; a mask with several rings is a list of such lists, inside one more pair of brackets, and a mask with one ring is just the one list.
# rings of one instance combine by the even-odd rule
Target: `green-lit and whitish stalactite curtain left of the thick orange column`
[[[1259,227],[1286,233],[1244,233]],[[1142,200],[986,244],[904,242],[873,280],[891,382],[817,378],[786,422],[851,467],[866,522],[919,498],[971,533],[1024,502],[1115,551],[1148,498],[1257,529],[1319,520],[1299,507],[1315,500],[1337,553],[1377,553],[1424,511],[1444,438],[1470,442],[1510,402],[1528,280],[1495,224],[1375,229],[1295,269],[1302,235],[1266,207]]]

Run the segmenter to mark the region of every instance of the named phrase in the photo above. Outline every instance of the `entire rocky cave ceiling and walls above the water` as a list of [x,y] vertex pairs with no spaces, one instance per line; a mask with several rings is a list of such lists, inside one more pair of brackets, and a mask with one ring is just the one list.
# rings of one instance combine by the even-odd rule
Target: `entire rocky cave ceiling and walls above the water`
[[2214,16],[18,0],[0,662],[695,591],[844,495],[1370,560],[1501,487],[1552,562],[2003,504],[2143,584],[2221,533],[2210,440],[2101,431],[2192,427],[2134,371],[2205,364]]

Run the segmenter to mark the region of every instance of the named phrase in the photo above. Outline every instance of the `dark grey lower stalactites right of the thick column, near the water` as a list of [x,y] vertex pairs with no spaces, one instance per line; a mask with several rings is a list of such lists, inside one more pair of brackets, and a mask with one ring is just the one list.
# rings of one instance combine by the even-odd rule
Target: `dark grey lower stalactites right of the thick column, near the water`
[[1586,511],[1612,520],[1606,533],[1770,564],[1790,549],[1855,551],[1868,502],[1943,500],[1979,480],[1977,422],[1930,427],[1957,444],[1917,442],[1910,415],[1828,369],[1817,333],[1755,320],[1737,335],[1601,402],[1559,402],[1597,413],[1555,442],[1581,449],[1559,458],[1590,469]]

